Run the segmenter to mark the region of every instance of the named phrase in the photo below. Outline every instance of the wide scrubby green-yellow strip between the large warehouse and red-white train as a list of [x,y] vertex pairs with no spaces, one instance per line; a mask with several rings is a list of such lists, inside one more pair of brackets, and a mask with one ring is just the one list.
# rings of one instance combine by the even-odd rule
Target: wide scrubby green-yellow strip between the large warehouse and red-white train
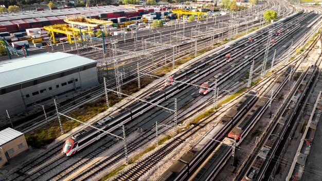
[[[142,77],[140,79],[141,88],[144,88],[149,83],[154,81],[155,78],[150,77]],[[124,94],[131,95],[135,92],[137,92],[138,86],[137,81],[129,82],[126,85],[123,85],[122,92]],[[109,95],[109,105],[113,106],[114,104],[120,102],[124,97],[117,97],[115,94],[110,93]],[[77,110],[69,113],[71,117],[85,122],[88,119],[91,119],[92,117],[96,116],[99,113],[102,113],[106,110],[106,101],[105,96],[102,96],[96,101],[84,104],[80,106]],[[61,116],[62,124],[63,124],[63,130],[64,132],[68,132],[76,126],[78,126],[80,123],[73,120],[68,120],[68,118]],[[61,136],[60,126],[58,120],[48,123],[47,125],[41,126],[39,129],[28,133],[26,135],[27,143],[32,146],[33,148],[41,148],[46,146],[46,144],[51,143],[53,140]]]

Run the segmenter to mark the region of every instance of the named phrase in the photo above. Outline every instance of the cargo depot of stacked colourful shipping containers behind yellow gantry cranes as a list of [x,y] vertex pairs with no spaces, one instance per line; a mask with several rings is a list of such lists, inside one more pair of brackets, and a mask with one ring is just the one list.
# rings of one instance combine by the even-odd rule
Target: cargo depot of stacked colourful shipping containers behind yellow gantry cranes
[[[172,8],[173,9],[173,8]],[[153,20],[163,20],[165,23],[177,18],[171,8],[165,7],[122,7],[122,6],[97,6],[88,8],[69,8],[51,11],[32,11],[5,13],[0,16],[0,39],[6,39],[16,49],[23,46],[45,46],[50,39],[44,26],[66,24],[64,19],[73,16],[83,16],[87,19],[98,19],[113,22],[106,29],[109,35],[124,33],[124,30],[145,28]],[[137,23],[137,24],[135,24]],[[84,30],[87,27],[80,26]],[[95,33],[103,26],[92,27]],[[59,43],[68,41],[65,34],[56,33]]]

